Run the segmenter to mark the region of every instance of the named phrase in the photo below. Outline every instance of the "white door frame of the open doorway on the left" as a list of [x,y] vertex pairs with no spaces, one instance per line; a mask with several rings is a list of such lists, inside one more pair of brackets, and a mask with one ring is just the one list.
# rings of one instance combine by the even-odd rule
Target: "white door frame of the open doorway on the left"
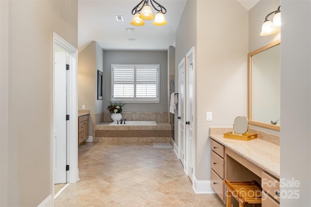
[[[52,32],[52,77],[54,77],[54,45],[58,45],[63,48],[71,57],[72,62],[69,70],[69,137],[67,138],[67,160],[69,163],[69,172],[67,177],[68,183],[76,183],[79,179],[79,170],[78,170],[78,95],[77,95],[77,66],[78,66],[78,49],[73,47],[65,39],[61,38],[55,32]],[[53,78],[52,81],[52,129],[51,129],[51,188],[52,195],[54,196],[54,112],[55,106],[54,102],[54,85],[56,80]]]

